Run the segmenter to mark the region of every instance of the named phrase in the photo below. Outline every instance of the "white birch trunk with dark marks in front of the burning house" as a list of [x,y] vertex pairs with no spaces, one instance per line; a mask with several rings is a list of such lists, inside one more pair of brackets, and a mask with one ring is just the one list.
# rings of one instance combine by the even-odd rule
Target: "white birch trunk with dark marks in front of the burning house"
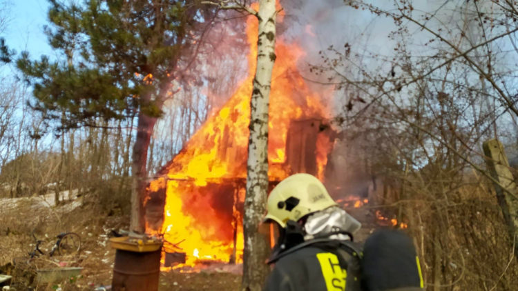
[[[247,195],[244,199],[244,252],[241,290],[260,291],[269,268],[269,238],[261,229],[268,188],[268,107],[271,71],[274,68],[275,0],[259,1],[259,31],[256,77],[251,97],[247,161]],[[261,226],[261,229],[260,229]]]

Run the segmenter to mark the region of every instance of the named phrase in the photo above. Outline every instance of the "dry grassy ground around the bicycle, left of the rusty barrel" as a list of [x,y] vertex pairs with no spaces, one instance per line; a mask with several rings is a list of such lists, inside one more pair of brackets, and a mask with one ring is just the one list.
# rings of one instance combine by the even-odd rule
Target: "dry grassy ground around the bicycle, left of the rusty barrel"
[[[111,283],[114,251],[108,245],[106,233],[125,228],[127,217],[104,214],[95,201],[68,201],[52,206],[41,197],[2,199],[0,205],[0,271],[12,274],[12,285],[18,290],[28,287],[36,290],[55,290],[56,284],[37,283],[36,270],[56,268],[58,265],[82,267],[81,277],[61,283],[61,290],[92,290],[96,285]],[[28,264],[10,263],[15,258],[28,259],[28,252],[35,248],[32,234],[44,241],[41,250],[48,252],[61,232],[76,232],[81,237],[78,256],[64,257],[41,255]],[[23,260],[25,261],[25,260]]]

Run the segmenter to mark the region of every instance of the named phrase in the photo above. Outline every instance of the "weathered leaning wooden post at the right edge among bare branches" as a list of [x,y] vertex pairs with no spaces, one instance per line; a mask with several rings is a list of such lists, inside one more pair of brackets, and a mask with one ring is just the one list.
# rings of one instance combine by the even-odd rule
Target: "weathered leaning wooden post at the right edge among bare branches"
[[490,139],[483,143],[483,150],[490,174],[496,180],[497,200],[508,224],[511,243],[515,245],[515,256],[518,258],[518,187],[509,170],[502,144],[497,139]]

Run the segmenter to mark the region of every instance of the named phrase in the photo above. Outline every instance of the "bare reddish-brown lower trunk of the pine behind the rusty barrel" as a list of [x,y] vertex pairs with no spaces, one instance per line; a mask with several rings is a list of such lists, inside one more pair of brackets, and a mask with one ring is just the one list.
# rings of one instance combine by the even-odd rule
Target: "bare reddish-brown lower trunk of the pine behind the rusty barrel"
[[157,119],[148,117],[140,112],[137,121],[137,137],[133,143],[132,159],[132,188],[131,188],[131,218],[130,229],[135,232],[144,232],[144,194],[146,190],[146,162],[151,134]]

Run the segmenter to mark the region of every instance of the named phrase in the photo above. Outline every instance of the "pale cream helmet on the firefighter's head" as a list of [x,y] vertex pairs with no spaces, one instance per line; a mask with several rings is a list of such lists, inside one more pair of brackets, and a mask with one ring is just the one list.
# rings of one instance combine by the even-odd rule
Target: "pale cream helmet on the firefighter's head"
[[280,181],[267,201],[265,221],[271,219],[285,228],[288,220],[337,205],[322,182],[310,174],[294,174]]

